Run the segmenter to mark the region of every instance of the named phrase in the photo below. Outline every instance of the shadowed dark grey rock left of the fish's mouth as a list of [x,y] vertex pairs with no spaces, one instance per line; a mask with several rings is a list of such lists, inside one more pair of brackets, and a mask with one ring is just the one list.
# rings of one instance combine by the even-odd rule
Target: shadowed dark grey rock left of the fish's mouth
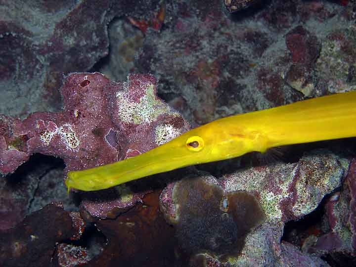
[[0,183],[0,229],[14,227],[25,215],[48,203],[62,202],[68,210],[77,210],[63,187],[63,166],[53,157],[33,156],[15,174]]

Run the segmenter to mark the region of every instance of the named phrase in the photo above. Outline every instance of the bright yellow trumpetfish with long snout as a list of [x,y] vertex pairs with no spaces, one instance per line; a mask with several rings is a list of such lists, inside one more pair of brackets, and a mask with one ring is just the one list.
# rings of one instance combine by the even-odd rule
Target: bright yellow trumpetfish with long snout
[[352,136],[356,136],[356,91],[219,119],[133,158],[69,172],[65,183],[68,190],[99,190],[270,147]]

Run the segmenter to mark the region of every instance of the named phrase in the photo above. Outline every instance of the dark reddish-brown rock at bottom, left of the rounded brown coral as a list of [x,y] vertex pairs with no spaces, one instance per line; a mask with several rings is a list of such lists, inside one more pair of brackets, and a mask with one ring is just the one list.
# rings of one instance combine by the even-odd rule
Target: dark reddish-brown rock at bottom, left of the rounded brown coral
[[[169,266],[176,259],[174,229],[168,225],[158,207],[159,191],[147,194],[143,203],[134,206],[115,220],[100,219],[96,227],[107,237],[102,253],[88,267]],[[115,255],[113,257],[112,255]]]

